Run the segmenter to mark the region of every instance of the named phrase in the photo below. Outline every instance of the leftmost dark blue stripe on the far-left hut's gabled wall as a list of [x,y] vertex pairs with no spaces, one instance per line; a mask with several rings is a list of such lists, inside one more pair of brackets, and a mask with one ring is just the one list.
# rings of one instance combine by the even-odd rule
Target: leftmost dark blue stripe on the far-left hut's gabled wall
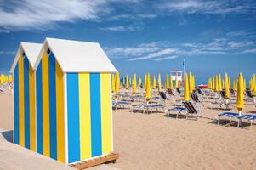
[[14,143],[19,144],[19,65],[14,69]]

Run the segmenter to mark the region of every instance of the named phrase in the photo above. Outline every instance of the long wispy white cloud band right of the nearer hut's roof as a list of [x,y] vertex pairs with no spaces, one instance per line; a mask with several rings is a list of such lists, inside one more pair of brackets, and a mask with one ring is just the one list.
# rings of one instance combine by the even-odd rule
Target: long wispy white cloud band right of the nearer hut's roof
[[[253,49],[252,49],[253,48]],[[228,38],[214,38],[209,42],[152,42],[134,47],[105,48],[112,59],[125,58],[129,61],[172,59],[172,56],[228,55],[255,53],[256,42],[230,41]]]

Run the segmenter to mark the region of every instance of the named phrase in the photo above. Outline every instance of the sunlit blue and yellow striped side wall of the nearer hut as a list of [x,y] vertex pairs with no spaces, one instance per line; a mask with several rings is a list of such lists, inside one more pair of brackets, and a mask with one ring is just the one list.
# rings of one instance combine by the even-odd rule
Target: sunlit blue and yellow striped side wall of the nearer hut
[[67,73],[68,163],[112,151],[111,74]]

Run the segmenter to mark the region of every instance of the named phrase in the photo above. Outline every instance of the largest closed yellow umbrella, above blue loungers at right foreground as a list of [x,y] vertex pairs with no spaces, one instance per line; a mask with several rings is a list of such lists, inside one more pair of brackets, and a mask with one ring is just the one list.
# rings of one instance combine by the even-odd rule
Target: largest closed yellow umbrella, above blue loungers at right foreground
[[236,108],[239,111],[239,114],[241,115],[241,111],[244,107],[244,102],[243,102],[243,77],[242,73],[239,74],[238,77],[238,87],[237,87],[237,96],[236,96]]

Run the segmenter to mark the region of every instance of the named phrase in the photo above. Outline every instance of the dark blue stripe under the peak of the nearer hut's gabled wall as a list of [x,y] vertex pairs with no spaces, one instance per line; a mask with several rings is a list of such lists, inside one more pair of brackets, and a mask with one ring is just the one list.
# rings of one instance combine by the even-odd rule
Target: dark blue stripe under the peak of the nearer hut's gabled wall
[[49,82],[49,119],[50,119],[50,156],[57,160],[57,133],[56,133],[56,82],[55,82],[55,58],[50,54],[48,58],[48,82]]

